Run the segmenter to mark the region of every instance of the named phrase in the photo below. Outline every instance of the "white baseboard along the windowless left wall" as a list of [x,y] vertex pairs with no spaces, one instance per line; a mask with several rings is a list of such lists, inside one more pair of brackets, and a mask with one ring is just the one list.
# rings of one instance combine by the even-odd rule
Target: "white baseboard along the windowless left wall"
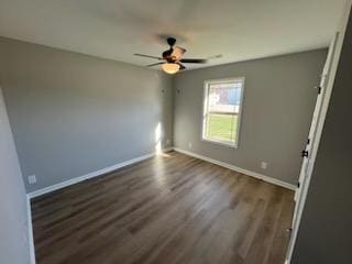
[[[168,152],[170,150],[173,150],[173,147],[165,148],[165,150],[163,150],[163,152]],[[134,163],[142,162],[142,161],[144,161],[146,158],[150,158],[150,157],[153,157],[155,155],[156,155],[156,153],[150,153],[150,154],[146,154],[146,155],[143,155],[143,156],[140,156],[140,157],[135,157],[135,158],[132,158],[132,160],[129,160],[129,161],[125,161],[125,162],[122,162],[122,163],[119,163],[119,164],[116,164],[116,165],[112,165],[112,166],[109,166],[109,167],[106,167],[106,168],[101,168],[99,170],[96,170],[96,172],[92,172],[92,173],[89,173],[89,174],[86,174],[86,175],[82,175],[82,176],[79,176],[79,177],[75,177],[75,178],[72,178],[72,179],[68,179],[68,180],[65,180],[65,182],[62,182],[62,183],[58,183],[58,184],[42,188],[42,189],[38,189],[38,190],[34,190],[32,193],[29,193],[28,196],[29,196],[30,199],[32,199],[34,197],[37,197],[37,196],[41,196],[41,195],[45,195],[45,194],[52,193],[54,190],[58,190],[58,189],[65,188],[65,187],[68,187],[70,185],[78,184],[78,183],[84,182],[86,179],[90,179],[90,178],[95,178],[95,177],[99,177],[99,176],[106,175],[107,173],[111,173],[113,170],[117,170],[119,168],[125,167],[128,165],[132,165]]]

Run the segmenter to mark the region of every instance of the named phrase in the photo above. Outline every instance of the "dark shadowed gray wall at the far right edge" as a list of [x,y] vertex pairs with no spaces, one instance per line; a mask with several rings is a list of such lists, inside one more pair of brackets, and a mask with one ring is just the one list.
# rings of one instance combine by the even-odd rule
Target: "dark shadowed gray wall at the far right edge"
[[350,16],[293,264],[352,263],[351,43]]

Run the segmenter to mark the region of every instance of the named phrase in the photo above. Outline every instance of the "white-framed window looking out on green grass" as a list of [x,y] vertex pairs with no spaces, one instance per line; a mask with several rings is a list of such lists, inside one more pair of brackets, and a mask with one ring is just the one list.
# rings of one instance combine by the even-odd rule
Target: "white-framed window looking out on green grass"
[[205,82],[202,140],[237,147],[244,78]]

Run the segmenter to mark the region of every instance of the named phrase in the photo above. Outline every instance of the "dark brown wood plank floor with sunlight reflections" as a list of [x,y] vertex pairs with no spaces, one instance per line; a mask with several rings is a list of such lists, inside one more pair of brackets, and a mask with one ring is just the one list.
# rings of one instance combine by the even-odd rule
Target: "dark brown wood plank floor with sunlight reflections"
[[32,201],[38,264],[283,264],[293,191],[172,152]]

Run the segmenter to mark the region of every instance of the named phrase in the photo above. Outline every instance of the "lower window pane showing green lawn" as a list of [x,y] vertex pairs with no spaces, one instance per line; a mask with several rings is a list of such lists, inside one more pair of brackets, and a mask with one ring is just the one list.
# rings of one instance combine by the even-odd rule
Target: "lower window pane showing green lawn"
[[237,139],[237,114],[209,113],[207,138],[216,141],[234,142]]

